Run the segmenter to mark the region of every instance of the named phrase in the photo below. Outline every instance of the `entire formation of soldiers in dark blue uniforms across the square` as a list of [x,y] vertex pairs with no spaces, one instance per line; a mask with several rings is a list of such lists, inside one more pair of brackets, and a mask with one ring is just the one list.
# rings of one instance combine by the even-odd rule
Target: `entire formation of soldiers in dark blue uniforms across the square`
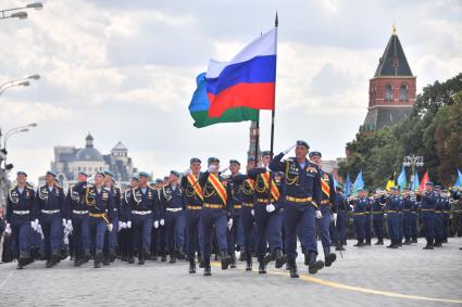
[[[294,149],[295,157],[284,159]],[[155,181],[140,171],[124,191],[115,187],[111,171],[91,177],[79,172],[78,183],[66,192],[53,171],[37,190],[27,183],[26,172],[18,171],[17,186],[8,195],[5,232],[13,239],[17,269],[38,259],[51,268],[68,255],[76,267],[92,259],[95,268],[117,258],[143,265],[158,257],[166,261],[168,256],[170,263],[187,259],[190,273],[198,261],[203,274],[211,276],[212,254],[225,270],[236,267],[240,252],[247,271],[257,257],[259,273],[274,261],[276,268],[286,265],[291,278],[299,277],[297,241],[310,273],[330,267],[337,257],[330,247],[345,251],[351,215],[355,246],[370,245],[373,232],[376,244],[384,244],[385,215],[388,247],[415,243],[419,213],[425,248],[447,242],[448,208],[451,200],[461,199],[460,191],[449,196],[428,183],[417,194],[400,195],[395,189],[390,194],[377,191],[369,196],[360,191],[358,197],[347,197],[321,166],[322,154],[297,141],[273,158],[269,151],[262,152],[261,163],[249,158],[246,174],[236,159],[221,170],[215,157],[202,171],[195,157],[183,174],[172,170]]]

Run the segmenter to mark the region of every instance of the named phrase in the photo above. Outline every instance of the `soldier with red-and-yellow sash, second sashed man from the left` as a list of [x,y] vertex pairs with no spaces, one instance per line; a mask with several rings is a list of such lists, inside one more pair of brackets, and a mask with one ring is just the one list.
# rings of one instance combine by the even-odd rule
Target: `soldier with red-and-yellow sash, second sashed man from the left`
[[203,207],[200,225],[203,233],[203,260],[204,276],[211,276],[210,245],[213,227],[215,228],[216,241],[220,250],[222,269],[226,270],[230,264],[227,253],[226,227],[233,226],[233,207],[230,191],[226,187],[227,181],[220,175],[220,159],[210,157],[208,170],[201,174],[199,183],[203,191]]

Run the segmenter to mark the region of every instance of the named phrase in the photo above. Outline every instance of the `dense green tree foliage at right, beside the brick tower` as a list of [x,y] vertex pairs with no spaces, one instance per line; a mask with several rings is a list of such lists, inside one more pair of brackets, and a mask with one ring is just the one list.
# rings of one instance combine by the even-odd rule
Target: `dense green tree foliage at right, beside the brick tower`
[[[462,73],[436,81],[417,95],[411,115],[374,133],[360,131],[347,143],[348,159],[338,174],[354,180],[362,169],[366,188],[385,188],[394,171],[399,174],[404,155],[424,156],[430,180],[450,187],[455,167],[462,166]],[[408,174],[410,176],[410,174]]]

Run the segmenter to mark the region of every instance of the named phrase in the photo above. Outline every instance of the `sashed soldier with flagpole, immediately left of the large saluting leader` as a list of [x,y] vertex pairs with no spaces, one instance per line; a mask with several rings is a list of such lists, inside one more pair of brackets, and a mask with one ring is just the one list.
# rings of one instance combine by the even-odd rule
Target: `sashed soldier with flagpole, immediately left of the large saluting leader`
[[[276,261],[280,268],[287,261],[283,255],[283,202],[279,200],[283,182],[280,176],[276,180],[275,171],[269,171],[271,152],[262,152],[263,167],[248,170],[248,176],[254,181],[254,219],[257,226],[257,256],[259,273],[266,273],[266,265]],[[270,183],[270,178],[272,183]],[[271,184],[271,200],[270,200]],[[266,242],[270,243],[271,253],[266,256]]]

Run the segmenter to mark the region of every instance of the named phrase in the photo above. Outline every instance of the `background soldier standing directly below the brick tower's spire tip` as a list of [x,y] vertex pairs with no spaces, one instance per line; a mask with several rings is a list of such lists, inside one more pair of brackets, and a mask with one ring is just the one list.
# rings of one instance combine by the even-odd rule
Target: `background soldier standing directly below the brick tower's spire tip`
[[389,248],[398,248],[400,246],[400,218],[399,213],[402,207],[403,200],[400,196],[397,187],[391,188],[391,195],[387,199],[387,222],[388,235],[390,238]]

